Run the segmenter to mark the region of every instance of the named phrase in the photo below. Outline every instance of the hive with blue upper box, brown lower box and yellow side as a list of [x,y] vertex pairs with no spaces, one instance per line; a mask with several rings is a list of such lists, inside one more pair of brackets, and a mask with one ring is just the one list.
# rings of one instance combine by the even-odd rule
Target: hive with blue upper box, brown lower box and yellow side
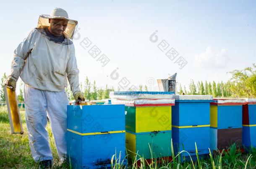
[[211,149],[226,149],[242,142],[244,99],[214,98],[211,103]]

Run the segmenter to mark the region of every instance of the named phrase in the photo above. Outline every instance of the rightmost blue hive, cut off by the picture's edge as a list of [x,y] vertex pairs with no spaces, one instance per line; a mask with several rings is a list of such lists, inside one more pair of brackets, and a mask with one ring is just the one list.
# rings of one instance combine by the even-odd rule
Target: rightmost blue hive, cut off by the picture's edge
[[256,148],[256,98],[246,98],[243,105],[243,146]]

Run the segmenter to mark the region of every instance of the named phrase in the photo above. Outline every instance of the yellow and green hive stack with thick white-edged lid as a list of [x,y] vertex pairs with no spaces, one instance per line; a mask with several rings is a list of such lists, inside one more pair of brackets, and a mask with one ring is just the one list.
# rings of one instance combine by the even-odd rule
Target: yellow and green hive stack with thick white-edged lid
[[145,159],[171,156],[172,92],[113,92],[110,97],[112,104],[125,104],[129,158],[136,153]]

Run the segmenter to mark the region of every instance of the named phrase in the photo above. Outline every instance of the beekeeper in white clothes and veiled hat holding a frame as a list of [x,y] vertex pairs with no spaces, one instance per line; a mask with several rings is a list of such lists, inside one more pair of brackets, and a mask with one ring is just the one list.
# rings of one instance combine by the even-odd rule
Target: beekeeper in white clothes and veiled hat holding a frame
[[52,166],[52,151],[45,129],[47,114],[60,160],[66,156],[67,79],[76,101],[84,101],[78,81],[75,48],[72,42],[78,22],[55,8],[40,15],[37,28],[14,51],[6,85],[15,91],[19,77],[24,81],[24,103],[32,156],[45,168]]

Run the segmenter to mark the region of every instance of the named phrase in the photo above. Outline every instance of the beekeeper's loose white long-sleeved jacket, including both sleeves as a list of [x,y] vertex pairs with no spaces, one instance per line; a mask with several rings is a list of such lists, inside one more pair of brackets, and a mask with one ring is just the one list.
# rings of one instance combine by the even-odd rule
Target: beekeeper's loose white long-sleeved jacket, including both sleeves
[[44,91],[63,91],[67,81],[72,93],[80,91],[75,48],[71,40],[49,40],[44,29],[34,28],[14,51],[10,76]]

